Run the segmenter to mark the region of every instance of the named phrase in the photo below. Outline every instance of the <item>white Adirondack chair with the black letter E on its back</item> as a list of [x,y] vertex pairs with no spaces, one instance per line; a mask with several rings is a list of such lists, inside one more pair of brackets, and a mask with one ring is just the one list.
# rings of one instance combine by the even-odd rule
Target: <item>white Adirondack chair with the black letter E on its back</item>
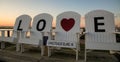
[[85,61],[87,49],[120,51],[120,43],[116,42],[113,13],[94,10],[85,15],[85,22]]

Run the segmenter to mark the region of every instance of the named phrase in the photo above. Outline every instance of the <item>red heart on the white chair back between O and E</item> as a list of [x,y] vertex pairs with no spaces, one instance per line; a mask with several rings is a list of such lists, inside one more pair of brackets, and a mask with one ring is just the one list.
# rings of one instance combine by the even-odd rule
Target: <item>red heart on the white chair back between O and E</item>
[[63,18],[61,21],[61,26],[65,31],[69,31],[75,24],[75,20],[73,18],[66,19]]

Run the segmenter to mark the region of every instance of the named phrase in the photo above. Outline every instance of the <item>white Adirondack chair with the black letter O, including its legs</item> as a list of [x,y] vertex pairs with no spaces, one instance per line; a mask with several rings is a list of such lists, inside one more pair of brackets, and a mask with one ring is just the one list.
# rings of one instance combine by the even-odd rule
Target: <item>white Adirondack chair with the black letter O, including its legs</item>
[[[32,28],[30,30],[30,38],[21,35],[19,43],[41,46],[41,55],[44,54],[43,36],[47,36],[52,28],[53,17],[47,13],[39,14],[34,17]],[[21,52],[24,51],[21,45]]]

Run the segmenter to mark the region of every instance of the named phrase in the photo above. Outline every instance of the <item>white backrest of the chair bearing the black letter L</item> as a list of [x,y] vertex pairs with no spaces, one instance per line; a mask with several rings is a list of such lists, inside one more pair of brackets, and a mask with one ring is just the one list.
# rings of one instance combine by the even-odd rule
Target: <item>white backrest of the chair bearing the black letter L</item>
[[14,28],[13,37],[17,37],[17,31],[28,31],[32,18],[29,15],[21,15],[17,17]]

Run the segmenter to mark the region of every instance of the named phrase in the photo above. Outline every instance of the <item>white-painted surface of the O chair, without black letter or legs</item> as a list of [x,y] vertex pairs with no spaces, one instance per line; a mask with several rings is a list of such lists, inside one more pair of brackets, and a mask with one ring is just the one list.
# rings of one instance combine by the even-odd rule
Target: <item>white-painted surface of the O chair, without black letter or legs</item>
[[[46,27],[43,31],[38,31],[36,29],[37,23],[39,20],[44,19],[46,21]],[[33,45],[39,45],[40,40],[42,40],[42,37],[44,33],[50,32],[52,27],[52,16],[46,13],[39,14],[34,17],[32,28],[30,30],[30,38],[24,38],[23,36],[19,40],[19,43],[25,43],[25,44],[33,44]],[[40,25],[42,26],[42,25]],[[37,41],[35,41],[37,40]]]

